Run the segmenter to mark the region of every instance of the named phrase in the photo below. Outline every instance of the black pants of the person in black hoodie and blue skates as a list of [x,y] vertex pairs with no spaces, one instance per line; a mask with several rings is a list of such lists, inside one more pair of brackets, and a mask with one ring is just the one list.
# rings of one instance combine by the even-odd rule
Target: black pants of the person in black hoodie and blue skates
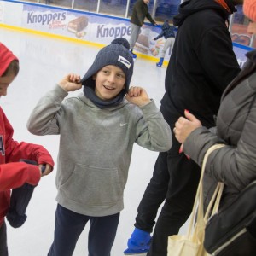
[[179,154],[179,148],[180,143],[172,134],[172,148],[159,154],[153,177],[137,209],[135,226],[151,232],[158,208],[166,200],[154,227],[148,256],[166,256],[168,236],[178,233],[192,211],[201,169]]

